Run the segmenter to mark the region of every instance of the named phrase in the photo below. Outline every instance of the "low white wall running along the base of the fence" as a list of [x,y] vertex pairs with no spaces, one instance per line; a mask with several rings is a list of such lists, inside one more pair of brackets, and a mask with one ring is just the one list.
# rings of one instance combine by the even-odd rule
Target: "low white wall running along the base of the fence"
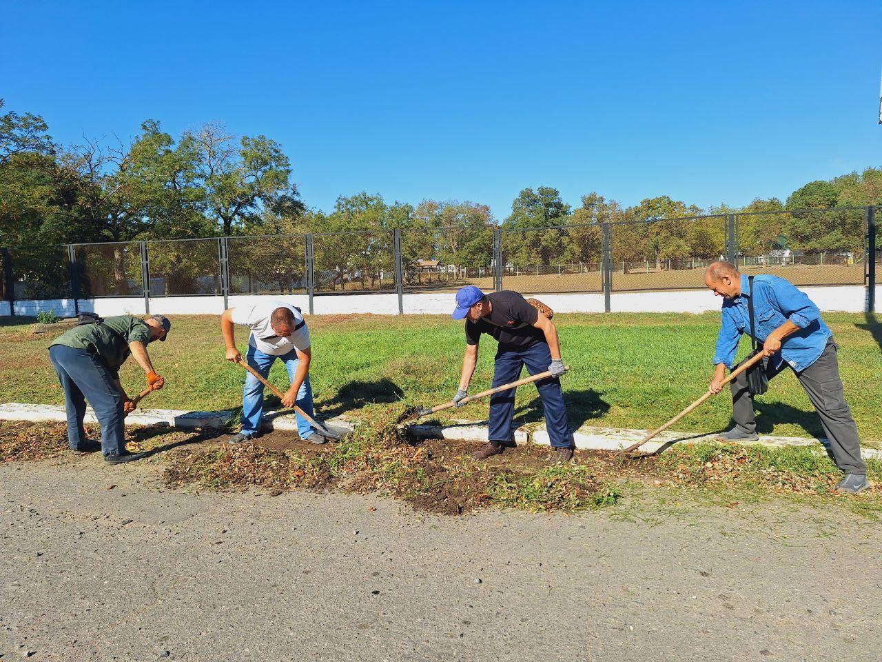
[[[805,287],[802,290],[822,311],[863,312],[866,290],[861,285],[836,287]],[[229,305],[239,305],[263,295],[233,295]],[[537,294],[555,312],[603,312],[603,295],[588,294]],[[306,295],[269,296],[266,298],[299,306],[309,312],[310,299]],[[402,297],[404,312],[449,315],[453,310],[452,292],[427,292],[405,294]],[[720,298],[708,290],[613,292],[609,306],[613,312],[706,312],[720,310]],[[313,298],[317,315],[352,314],[370,312],[375,315],[398,313],[398,296],[395,294],[340,294]],[[144,299],[97,298],[80,299],[81,311],[97,312],[99,315],[143,315]],[[219,315],[223,312],[223,297],[153,297],[150,312],[168,315]],[[51,310],[60,317],[74,314],[72,299],[46,299],[41,301],[16,301],[16,315],[36,315]],[[9,304],[0,302],[0,315],[9,315]]]

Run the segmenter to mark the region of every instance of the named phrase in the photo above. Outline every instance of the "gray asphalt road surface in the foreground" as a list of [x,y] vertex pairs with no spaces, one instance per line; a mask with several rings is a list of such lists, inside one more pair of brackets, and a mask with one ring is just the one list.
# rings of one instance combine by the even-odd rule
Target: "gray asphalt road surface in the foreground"
[[2,662],[882,658],[882,526],[858,518],[452,518],[167,491],[156,466],[0,466]]

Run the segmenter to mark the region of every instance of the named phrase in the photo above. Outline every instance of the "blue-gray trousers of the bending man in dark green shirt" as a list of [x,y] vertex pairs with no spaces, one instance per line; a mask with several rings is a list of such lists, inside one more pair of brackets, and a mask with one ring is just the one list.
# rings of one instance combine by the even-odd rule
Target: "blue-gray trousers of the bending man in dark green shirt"
[[66,345],[52,345],[49,360],[56,369],[58,381],[64,388],[64,408],[67,410],[67,440],[74,450],[86,447],[86,400],[92,405],[101,425],[101,453],[125,453],[125,426],[123,394],[114,384],[113,375],[101,359],[87,350],[75,350]]

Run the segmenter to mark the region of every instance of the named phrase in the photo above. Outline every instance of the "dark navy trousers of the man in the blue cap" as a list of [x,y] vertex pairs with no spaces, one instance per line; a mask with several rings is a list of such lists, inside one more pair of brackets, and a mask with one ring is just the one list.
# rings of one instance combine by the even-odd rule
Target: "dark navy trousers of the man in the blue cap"
[[[551,352],[547,342],[534,342],[526,349],[497,351],[496,366],[493,372],[493,387],[508,384],[520,377],[520,370],[527,365],[527,372],[545,372],[551,364]],[[566,419],[564,391],[557,377],[549,377],[534,382],[542,398],[545,411],[545,428],[554,448],[572,448],[572,434]],[[514,441],[512,424],[514,421],[514,393],[511,388],[490,396],[489,438],[497,446],[511,446]]]

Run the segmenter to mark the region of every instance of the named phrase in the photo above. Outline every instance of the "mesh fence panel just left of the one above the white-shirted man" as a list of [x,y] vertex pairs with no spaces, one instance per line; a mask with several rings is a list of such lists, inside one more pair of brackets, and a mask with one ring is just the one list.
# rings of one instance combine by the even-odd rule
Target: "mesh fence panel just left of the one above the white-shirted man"
[[221,294],[217,239],[147,242],[150,296]]

